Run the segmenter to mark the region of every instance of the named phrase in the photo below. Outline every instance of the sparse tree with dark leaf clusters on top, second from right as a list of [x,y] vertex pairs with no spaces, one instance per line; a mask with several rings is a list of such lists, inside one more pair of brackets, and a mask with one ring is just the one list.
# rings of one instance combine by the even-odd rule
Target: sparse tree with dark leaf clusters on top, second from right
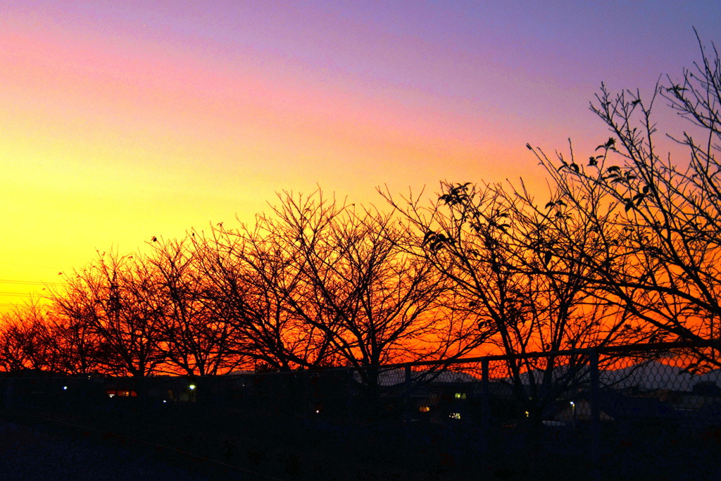
[[463,299],[456,309],[474,315],[473,335],[486,352],[518,356],[507,361],[507,376],[537,422],[547,402],[585,379],[588,356],[524,355],[611,345],[646,334],[593,296],[588,268],[567,252],[565,239],[570,234],[589,256],[600,247],[592,226],[568,216],[562,202],[539,208],[523,188],[509,193],[500,185],[472,183],[444,182],[430,204],[421,196],[396,201],[384,193],[415,231],[408,249],[451,281]]

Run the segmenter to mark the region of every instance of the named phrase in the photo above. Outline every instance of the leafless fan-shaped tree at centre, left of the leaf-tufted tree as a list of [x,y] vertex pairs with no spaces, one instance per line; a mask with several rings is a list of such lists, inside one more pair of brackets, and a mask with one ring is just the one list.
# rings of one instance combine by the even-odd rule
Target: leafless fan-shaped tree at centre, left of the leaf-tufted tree
[[398,219],[375,209],[311,195],[282,193],[260,229],[280,243],[298,273],[286,303],[330,351],[356,366],[368,384],[371,366],[468,349],[459,313],[444,309],[448,284],[402,244]]

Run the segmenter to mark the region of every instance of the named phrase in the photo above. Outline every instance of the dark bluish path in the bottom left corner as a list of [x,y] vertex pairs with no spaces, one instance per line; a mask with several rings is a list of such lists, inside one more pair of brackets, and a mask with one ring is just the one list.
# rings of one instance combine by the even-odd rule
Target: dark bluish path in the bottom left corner
[[205,481],[202,467],[173,466],[142,449],[0,419],[0,480]]

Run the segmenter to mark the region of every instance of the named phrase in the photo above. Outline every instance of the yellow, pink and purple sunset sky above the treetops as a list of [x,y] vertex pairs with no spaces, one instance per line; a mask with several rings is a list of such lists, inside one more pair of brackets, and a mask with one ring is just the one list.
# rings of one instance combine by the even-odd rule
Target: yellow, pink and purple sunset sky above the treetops
[[[517,181],[721,42],[715,1],[0,2],[0,309],[275,192]],[[669,112],[662,131],[680,132]]]

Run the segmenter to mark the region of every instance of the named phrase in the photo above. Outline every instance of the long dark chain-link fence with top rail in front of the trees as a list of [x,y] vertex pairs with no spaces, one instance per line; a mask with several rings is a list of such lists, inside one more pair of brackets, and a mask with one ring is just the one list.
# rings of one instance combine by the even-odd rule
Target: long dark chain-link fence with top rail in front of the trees
[[698,346],[667,344],[198,378],[16,376],[0,379],[0,404],[282,479],[721,479],[721,369],[699,366]]

